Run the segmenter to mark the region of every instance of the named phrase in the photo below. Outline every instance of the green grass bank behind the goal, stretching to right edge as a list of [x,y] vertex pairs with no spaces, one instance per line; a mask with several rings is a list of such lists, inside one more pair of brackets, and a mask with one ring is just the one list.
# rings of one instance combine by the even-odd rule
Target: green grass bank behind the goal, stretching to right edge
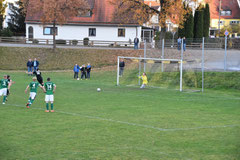
[[[125,76],[120,79],[121,84],[136,85],[138,70],[126,70]],[[179,72],[148,73],[150,86],[179,88]],[[240,89],[240,72],[205,72],[204,88],[208,89]],[[183,72],[183,89],[201,88],[201,72]]]

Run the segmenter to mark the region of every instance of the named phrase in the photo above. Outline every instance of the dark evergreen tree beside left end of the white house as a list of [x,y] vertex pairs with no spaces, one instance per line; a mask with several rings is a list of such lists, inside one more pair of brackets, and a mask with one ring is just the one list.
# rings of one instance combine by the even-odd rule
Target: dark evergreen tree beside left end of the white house
[[25,33],[25,17],[24,6],[21,1],[17,1],[11,8],[10,21],[8,22],[9,29],[14,33]]

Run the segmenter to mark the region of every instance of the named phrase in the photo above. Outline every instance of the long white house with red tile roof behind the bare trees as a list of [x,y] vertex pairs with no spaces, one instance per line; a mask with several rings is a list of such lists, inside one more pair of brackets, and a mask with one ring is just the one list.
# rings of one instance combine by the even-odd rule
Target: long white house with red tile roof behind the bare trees
[[[73,17],[57,25],[56,39],[100,41],[132,41],[141,39],[142,27],[137,23],[121,24],[113,20],[114,6],[109,0],[88,0],[91,11],[87,16]],[[31,8],[29,8],[30,10]],[[43,26],[39,14],[26,17],[26,38],[52,39],[53,27]]]

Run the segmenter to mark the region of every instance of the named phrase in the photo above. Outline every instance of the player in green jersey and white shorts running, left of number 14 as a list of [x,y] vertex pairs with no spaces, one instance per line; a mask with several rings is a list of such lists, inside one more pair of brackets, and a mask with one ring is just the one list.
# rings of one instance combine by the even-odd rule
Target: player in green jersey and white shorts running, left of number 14
[[30,96],[28,99],[28,103],[26,105],[27,108],[30,108],[30,106],[33,104],[33,101],[35,100],[36,95],[37,95],[38,87],[42,88],[42,90],[45,91],[43,86],[41,84],[39,84],[38,82],[36,82],[36,80],[37,80],[36,77],[33,77],[32,79],[33,79],[33,81],[27,86],[27,88],[25,90],[25,93],[27,94],[28,88],[30,88]]

